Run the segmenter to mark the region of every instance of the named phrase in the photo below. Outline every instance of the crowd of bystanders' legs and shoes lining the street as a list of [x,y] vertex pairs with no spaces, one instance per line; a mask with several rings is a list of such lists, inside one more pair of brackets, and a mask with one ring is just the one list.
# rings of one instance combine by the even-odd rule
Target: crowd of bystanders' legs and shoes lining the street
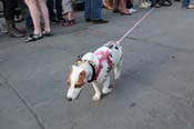
[[[21,38],[27,33],[25,30],[19,30],[16,27],[16,18],[18,21],[24,20],[27,30],[32,30],[24,42],[53,36],[51,22],[61,23],[64,27],[75,24],[72,0],[2,0],[2,3],[7,33],[10,37]],[[133,4],[133,0],[84,0],[84,19],[85,22],[94,24],[108,23],[109,21],[102,18],[102,6],[114,13],[130,16],[137,11]],[[140,0],[139,2],[139,8],[143,9],[162,6],[172,6],[172,1]],[[183,0],[182,8],[194,9],[194,6],[190,4],[190,0]]]

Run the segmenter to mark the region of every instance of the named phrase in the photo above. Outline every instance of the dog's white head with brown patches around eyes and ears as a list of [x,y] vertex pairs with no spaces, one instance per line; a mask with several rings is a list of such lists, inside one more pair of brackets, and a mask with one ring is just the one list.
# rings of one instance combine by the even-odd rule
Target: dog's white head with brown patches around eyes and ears
[[71,71],[68,76],[68,95],[67,98],[69,101],[74,100],[79,97],[85,80],[85,71],[79,66],[72,66]]

